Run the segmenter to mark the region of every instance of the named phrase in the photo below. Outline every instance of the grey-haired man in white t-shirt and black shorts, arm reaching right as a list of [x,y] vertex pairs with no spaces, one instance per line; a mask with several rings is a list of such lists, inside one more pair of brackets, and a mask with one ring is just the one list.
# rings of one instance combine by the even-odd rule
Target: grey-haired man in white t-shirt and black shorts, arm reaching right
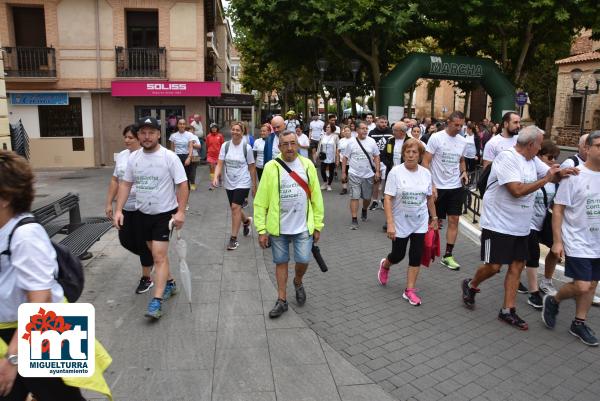
[[481,215],[481,265],[473,279],[462,282],[463,302],[475,306],[479,285],[508,265],[504,280],[504,302],[498,319],[527,330],[516,313],[519,278],[528,257],[528,237],[534,213],[535,192],[548,182],[558,182],[561,170],[541,162],[538,154],[544,132],[529,126],[519,132],[517,144],[501,152],[492,165],[489,188],[483,198]]

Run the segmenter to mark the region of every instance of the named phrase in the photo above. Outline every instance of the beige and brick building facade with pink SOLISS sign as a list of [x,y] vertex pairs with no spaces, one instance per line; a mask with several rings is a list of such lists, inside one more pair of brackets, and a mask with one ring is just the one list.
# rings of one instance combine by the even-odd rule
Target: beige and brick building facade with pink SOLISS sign
[[112,164],[147,115],[166,144],[177,117],[206,126],[207,98],[229,91],[220,0],[0,0],[0,41],[9,119],[38,168]]

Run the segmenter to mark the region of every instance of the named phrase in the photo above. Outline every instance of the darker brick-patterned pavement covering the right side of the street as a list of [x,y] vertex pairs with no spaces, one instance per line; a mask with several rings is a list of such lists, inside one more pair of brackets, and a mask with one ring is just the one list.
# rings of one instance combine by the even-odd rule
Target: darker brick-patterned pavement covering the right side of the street
[[[335,190],[338,186],[334,183]],[[291,304],[309,327],[393,397],[598,399],[600,353],[568,333],[574,302],[561,304],[552,332],[527,305],[526,296],[519,295],[517,310],[530,327],[521,332],[497,320],[501,274],[481,286],[476,309],[467,310],[460,282],[478,266],[479,245],[460,234],[455,256],[462,269],[453,272],[437,261],[422,269],[417,286],[423,304],[410,306],[402,299],[406,259],[392,268],[386,287],[377,282],[379,260],[390,250],[381,230],[383,211],[369,212],[369,221],[351,231],[347,198],[336,191],[324,192],[324,198],[326,228],[320,245],[330,270],[323,274],[312,266],[305,278],[306,305]],[[270,251],[263,256],[272,266]],[[270,274],[274,279],[272,268]],[[598,321],[594,308],[590,324],[600,330]]]

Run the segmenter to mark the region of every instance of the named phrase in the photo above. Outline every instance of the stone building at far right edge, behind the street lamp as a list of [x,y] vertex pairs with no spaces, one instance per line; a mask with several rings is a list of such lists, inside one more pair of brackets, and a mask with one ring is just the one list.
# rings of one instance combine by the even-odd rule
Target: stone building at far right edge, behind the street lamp
[[559,145],[577,146],[581,125],[584,133],[600,129],[600,94],[588,95],[582,116],[584,96],[573,93],[571,71],[582,71],[577,89],[584,89],[586,85],[591,90],[597,88],[594,72],[600,70],[600,41],[593,41],[591,31],[584,31],[571,46],[571,55],[557,60],[556,64],[558,79],[551,135]]

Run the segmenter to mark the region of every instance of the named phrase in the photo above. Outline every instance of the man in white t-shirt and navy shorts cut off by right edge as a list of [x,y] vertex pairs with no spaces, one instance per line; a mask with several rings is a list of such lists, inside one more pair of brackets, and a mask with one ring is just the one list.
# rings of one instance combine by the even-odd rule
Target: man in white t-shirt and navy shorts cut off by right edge
[[575,319],[569,333],[584,344],[598,346],[594,332],[585,319],[600,280],[600,131],[593,131],[585,142],[586,161],[580,173],[558,187],[552,208],[552,252],[565,258],[565,276],[573,279],[556,295],[546,295],[542,320],[554,328],[558,305],[575,298]]

